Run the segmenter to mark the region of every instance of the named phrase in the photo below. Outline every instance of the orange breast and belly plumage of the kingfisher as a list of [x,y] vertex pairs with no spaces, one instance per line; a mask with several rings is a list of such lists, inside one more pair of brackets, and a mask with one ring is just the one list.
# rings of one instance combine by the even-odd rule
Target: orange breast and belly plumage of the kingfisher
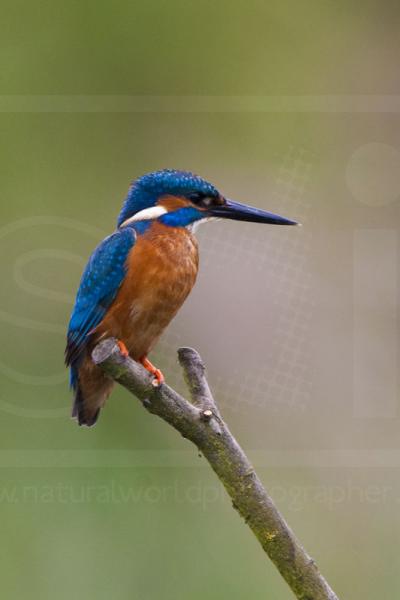
[[198,271],[197,242],[184,228],[155,223],[128,257],[125,280],[98,337],[122,340],[134,359],[146,356],[191,291]]

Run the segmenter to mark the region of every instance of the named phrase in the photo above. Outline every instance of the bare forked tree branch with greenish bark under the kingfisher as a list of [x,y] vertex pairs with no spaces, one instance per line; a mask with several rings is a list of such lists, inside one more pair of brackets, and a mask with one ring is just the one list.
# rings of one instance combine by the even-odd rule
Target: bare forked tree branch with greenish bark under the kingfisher
[[141,400],[149,412],[197,446],[232,498],[234,508],[299,600],[338,600],[224,423],[195,350],[178,351],[192,402],[166,384],[155,387],[152,376],[141,365],[120,354],[114,339],[98,344],[92,356],[95,364]]

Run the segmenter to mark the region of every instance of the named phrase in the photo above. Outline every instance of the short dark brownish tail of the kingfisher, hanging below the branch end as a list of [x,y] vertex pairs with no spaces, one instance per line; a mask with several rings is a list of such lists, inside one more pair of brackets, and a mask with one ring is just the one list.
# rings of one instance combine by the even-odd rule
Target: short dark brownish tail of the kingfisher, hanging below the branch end
[[85,359],[79,370],[74,372],[74,368],[71,368],[71,383],[75,392],[72,417],[79,425],[92,427],[111,393],[113,381],[90,359]]

